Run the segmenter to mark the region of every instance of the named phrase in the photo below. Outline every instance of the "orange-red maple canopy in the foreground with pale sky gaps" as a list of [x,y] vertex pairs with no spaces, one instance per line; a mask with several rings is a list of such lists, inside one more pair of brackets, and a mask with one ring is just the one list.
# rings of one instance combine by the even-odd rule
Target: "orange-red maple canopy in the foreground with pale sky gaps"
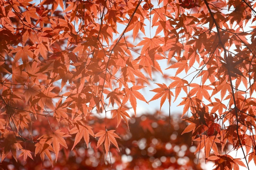
[[[256,162],[256,3],[31,1],[0,2],[1,161],[10,151],[16,159],[17,149],[25,159],[32,157],[29,142],[42,161],[45,155],[52,160],[51,152],[57,161],[60,146],[67,148],[64,138],[72,134],[72,149],[82,138],[88,147],[91,135],[99,137],[96,148],[103,145],[110,155],[111,143],[119,149],[119,136],[107,118],[95,131],[88,123],[93,114],[112,113],[117,126],[122,119],[128,126],[128,104],[136,116],[137,99],[161,97],[160,107],[166,99],[171,106],[182,90],[182,117],[192,115],[185,118],[190,125],[184,133],[192,131],[192,140],[199,141],[196,152],[204,149],[216,169],[245,166],[228,155],[225,146],[231,144],[243,150],[246,163]],[[177,70],[165,76],[173,82],[158,82],[152,90],[157,94],[147,101],[139,91],[153,71],[164,76],[159,60]],[[36,137],[39,120],[48,124]],[[215,156],[209,157],[211,151]]]

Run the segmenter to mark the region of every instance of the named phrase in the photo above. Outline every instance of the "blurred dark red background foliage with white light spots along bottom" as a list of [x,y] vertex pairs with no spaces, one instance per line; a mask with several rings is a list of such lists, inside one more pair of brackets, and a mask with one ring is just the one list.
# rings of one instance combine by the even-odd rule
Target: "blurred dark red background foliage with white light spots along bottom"
[[[180,114],[171,118],[171,129],[168,129],[167,116],[160,112],[155,114],[145,114],[140,117],[132,117],[129,120],[130,128],[126,127],[125,122],[121,122],[119,128],[116,130],[121,139],[118,139],[119,149],[111,148],[111,162],[108,159],[102,158],[103,148],[96,149],[97,140],[92,138],[88,149],[86,144],[80,142],[75,147],[76,149],[70,150],[65,147],[60,147],[58,160],[54,163],[53,169],[167,169],[173,167],[174,169],[196,169],[201,170],[200,162],[197,164],[197,157],[194,155],[196,144],[191,146],[191,140],[188,140],[191,134],[181,135],[182,130],[186,127],[184,121],[180,121]],[[39,118],[40,119],[40,118]],[[104,128],[104,119],[91,117],[88,124],[94,130]],[[107,119],[108,128],[115,129],[116,120]],[[35,122],[35,130],[38,134],[43,134],[47,128],[47,121]],[[51,122],[53,123],[53,122]],[[56,125],[52,127],[54,130],[59,127]],[[27,134],[28,136],[29,134]],[[68,148],[72,148],[76,135],[66,137]],[[37,141],[37,140],[36,140]],[[34,150],[33,143],[27,143],[28,150]],[[52,169],[49,159],[42,161],[39,155],[34,156],[34,151],[31,153],[33,160],[23,157],[23,152],[19,152],[18,162],[11,156],[2,162],[1,167],[8,169],[10,165],[14,165],[14,169]],[[26,161],[24,161],[26,159]],[[103,160],[101,160],[103,159]],[[102,165],[101,165],[102,162]],[[196,163],[195,163],[196,162]],[[1,168],[0,168],[1,169]]]

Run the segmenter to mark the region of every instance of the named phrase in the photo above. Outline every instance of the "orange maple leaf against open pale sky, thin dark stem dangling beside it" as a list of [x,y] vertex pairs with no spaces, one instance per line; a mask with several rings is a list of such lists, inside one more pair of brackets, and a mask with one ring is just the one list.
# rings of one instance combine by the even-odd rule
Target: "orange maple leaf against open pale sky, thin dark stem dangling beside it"
[[159,99],[161,98],[161,103],[160,103],[160,110],[162,108],[163,103],[165,102],[166,98],[169,101],[169,105],[171,105],[171,95],[173,95],[173,93],[170,90],[170,87],[167,87],[166,84],[159,84],[159,83],[155,83],[157,84],[160,88],[156,88],[154,90],[150,90],[151,92],[156,92],[157,94],[155,94],[152,99],[150,99],[148,102],[151,102],[153,100]]

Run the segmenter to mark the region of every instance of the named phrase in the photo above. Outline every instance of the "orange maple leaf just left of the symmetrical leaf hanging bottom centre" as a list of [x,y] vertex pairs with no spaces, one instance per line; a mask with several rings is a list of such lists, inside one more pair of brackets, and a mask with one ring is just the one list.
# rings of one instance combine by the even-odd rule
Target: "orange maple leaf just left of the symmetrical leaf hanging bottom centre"
[[89,134],[94,136],[93,130],[91,126],[87,125],[78,125],[69,131],[70,134],[77,134],[75,138],[74,145],[71,150],[75,148],[75,146],[78,144],[78,142],[84,137],[84,141],[87,145],[87,148],[89,147]]

